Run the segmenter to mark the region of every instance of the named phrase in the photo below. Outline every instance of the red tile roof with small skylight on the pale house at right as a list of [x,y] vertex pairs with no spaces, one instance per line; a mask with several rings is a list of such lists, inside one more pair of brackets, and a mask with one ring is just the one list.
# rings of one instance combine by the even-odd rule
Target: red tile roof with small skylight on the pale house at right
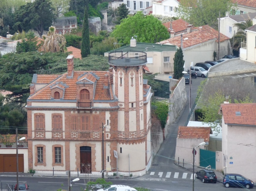
[[256,103],[221,104],[221,112],[225,124],[256,125]]

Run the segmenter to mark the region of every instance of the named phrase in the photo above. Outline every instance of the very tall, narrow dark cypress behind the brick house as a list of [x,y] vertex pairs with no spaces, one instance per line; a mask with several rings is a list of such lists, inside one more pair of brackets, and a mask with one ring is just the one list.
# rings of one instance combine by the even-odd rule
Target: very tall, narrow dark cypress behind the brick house
[[87,57],[88,54],[90,54],[90,37],[87,8],[85,7],[82,30],[81,56],[82,58],[84,58]]

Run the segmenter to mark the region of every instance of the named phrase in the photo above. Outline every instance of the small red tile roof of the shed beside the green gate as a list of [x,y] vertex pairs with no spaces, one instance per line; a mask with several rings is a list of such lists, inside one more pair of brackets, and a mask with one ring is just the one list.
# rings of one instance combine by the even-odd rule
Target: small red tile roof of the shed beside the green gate
[[213,134],[211,127],[178,127],[178,139],[204,139],[209,141],[210,134]]

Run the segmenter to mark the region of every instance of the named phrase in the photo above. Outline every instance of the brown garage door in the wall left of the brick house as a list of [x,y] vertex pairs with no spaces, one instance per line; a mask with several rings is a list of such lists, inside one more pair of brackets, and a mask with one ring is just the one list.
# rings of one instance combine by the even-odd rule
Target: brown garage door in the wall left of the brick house
[[[16,172],[16,164],[16,154],[0,154],[0,172]],[[24,172],[23,154],[19,154],[19,172]]]

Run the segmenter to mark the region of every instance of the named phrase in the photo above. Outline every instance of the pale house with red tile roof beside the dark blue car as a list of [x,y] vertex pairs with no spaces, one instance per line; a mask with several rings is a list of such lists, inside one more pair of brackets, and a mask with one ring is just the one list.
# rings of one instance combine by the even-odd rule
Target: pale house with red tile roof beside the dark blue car
[[224,173],[256,181],[256,103],[221,104]]

